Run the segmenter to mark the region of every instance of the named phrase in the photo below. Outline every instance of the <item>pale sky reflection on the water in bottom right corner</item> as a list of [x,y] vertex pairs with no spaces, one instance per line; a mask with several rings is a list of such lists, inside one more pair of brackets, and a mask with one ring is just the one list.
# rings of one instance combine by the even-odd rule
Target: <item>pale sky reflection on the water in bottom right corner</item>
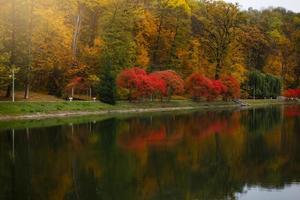
[[245,193],[237,194],[239,200],[299,200],[300,184],[288,185],[283,189],[263,189],[260,187],[245,188]]

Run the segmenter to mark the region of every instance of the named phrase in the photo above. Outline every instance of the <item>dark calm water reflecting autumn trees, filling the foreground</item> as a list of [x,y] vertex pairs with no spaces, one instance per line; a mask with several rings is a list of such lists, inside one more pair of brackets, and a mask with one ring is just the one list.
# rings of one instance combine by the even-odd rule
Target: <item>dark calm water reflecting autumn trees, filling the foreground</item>
[[0,199],[300,199],[300,106],[0,130]]

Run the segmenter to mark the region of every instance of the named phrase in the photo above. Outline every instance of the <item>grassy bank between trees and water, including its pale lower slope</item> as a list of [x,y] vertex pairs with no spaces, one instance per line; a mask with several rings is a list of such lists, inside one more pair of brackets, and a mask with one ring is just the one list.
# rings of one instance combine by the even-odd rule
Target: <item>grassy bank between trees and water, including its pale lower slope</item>
[[[278,100],[245,100],[250,106],[283,104]],[[106,113],[159,112],[185,109],[213,109],[239,106],[234,102],[193,102],[190,100],[172,100],[170,102],[118,102],[111,106],[100,102],[0,102],[0,120],[64,117]]]

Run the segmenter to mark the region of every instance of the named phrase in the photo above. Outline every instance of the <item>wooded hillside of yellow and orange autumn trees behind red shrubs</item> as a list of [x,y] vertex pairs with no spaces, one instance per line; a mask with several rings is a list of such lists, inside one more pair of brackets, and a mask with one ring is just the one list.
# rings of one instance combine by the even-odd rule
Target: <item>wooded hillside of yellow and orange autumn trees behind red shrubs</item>
[[186,84],[192,74],[207,77],[220,93],[218,80],[231,77],[243,97],[275,97],[281,84],[300,87],[300,13],[206,0],[0,1],[0,91],[7,97],[12,70],[29,98],[30,90],[64,96],[73,85],[85,93],[104,81],[122,85],[118,76],[133,67],[158,88],[155,78],[176,72]]

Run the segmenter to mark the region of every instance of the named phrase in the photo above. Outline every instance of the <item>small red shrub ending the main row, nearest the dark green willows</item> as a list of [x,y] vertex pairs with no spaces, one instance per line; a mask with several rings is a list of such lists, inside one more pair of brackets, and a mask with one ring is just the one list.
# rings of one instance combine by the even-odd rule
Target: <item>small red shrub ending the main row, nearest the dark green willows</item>
[[238,99],[240,97],[240,83],[234,77],[223,77],[221,81],[227,88],[227,91],[223,95],[224,99]]

